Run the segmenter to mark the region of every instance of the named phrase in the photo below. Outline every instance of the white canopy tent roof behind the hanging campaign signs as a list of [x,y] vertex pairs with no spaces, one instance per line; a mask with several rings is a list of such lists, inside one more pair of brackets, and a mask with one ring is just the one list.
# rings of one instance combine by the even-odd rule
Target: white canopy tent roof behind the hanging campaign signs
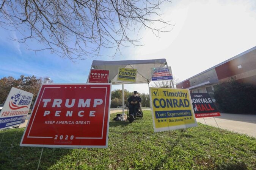
[[[136,84],[151,82],[151,68],[167,65],[166,59],[155,60],[123,60],[123,61],[100,61],[93,60],[91,67],[98,70],[109,70],[108,81],[112,84]],[[117,80],[118,68],[137,69],[136,82],[120,82]]]

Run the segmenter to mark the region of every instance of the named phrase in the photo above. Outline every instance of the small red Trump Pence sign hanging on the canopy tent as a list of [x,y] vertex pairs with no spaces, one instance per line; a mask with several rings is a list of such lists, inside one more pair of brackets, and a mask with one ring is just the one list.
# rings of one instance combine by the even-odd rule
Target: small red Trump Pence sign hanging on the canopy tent
[[91,70],[89,83],[108,83],[109,70]]

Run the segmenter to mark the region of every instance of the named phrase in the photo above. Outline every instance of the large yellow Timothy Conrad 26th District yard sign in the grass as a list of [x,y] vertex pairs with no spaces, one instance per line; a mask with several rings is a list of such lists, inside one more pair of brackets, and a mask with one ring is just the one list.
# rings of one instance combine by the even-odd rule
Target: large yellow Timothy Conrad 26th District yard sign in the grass
[[188,89],[150,87],[154,132],[197,126]]

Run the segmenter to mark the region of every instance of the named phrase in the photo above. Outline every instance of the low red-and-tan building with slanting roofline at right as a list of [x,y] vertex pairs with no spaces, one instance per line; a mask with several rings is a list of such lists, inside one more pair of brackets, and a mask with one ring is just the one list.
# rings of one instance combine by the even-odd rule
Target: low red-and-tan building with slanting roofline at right
[[176,84],[192,93],[214,93],[214,86],[231,77],[243,83],[256,85],[256,46]]

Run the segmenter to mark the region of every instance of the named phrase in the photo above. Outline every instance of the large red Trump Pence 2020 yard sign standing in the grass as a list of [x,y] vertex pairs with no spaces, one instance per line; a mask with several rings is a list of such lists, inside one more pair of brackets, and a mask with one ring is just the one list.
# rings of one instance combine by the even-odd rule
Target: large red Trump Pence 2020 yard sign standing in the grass
[[44,84],[20,146],[106,148],[111,84]]

